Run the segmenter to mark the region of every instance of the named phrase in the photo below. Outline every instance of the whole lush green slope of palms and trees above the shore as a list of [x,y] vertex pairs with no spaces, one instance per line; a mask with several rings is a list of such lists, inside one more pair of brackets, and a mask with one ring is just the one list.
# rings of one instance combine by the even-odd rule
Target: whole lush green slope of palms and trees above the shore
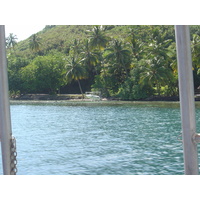
[[[195,89],[200,28],[191,26]],[[46,26],[25,41],[7,38],[12,92],[57,93],[77,84],[124,100],[178,95],[173,26]],[[15,51],[11,51],[13,49]]]

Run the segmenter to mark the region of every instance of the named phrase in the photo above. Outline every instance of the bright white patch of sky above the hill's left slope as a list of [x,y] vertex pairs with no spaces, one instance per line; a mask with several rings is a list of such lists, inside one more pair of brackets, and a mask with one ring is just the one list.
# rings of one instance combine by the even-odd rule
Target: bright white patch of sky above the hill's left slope
[[10,33],[13,33],[17,36],[18,42],[21,40],[25,40],[28,37],[30,37],[32,34],[37,33],[38,31],[41,31],[46,25],[44,24],[5,24],[5,33],[6,37]]

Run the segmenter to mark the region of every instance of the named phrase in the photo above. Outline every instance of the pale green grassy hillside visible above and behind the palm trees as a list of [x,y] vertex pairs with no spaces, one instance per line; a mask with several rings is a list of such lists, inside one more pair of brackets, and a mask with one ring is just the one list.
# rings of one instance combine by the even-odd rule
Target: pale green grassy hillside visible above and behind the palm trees
[[[155,27],[164,28],[167,30],[168,38],[175,40],[174,27],[173,26],[136,26],[136,25],[107,25],[106,35],[110,38],[122,38],[125,39],[128,36],[129,29],[135,30],[136,34],[141,32],[143,38],[148,38]],[[93,28],[92,25],[47,25],[43,30],[36,33],[40,38],[40,54],[45,55],[52,49],[57,49],[63,53],[68,53],[70,45],[74,39],[84,40],[88,38],[89,31]],[[199,26],[191,26],[191,34],[200,34]],[[32,58],[32,52],[29,48],[29,40],[31,36],[26,40],[20,41],[15,46],[17,55],[30,56]]]

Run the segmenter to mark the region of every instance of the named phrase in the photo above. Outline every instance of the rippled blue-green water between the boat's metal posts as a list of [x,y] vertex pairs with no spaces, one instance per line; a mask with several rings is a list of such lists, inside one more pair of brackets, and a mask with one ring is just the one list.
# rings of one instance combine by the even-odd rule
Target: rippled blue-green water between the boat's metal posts
[[19,175],[184,174],[178,103],[12,102],[11,118]]

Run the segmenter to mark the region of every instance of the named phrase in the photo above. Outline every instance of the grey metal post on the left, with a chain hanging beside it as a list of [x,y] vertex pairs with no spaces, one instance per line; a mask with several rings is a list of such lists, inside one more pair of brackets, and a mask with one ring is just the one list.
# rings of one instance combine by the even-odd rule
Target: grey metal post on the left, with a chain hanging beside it
[[11,174],[11,120],[8,97],[8,75],[5,47],[5,26],[0,25],[0,139],[4,175]]

